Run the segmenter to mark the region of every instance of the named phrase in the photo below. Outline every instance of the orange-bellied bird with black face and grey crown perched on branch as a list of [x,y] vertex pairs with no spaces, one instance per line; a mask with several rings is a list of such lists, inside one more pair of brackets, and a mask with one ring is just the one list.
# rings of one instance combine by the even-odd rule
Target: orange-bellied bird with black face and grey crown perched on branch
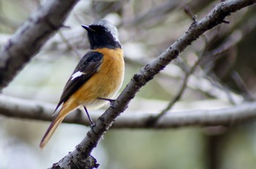
[[[88,109],[99,109],[121,88],[124,80],[124,52],[118,39],[118,30],[108,20],[97,20],[82,25],[87,31],[90,49],[81,58],[64,86],[59,103],[39,147],[43,149],[64,117],[83,107],[94,126]],[[111,105],[111,104],[110,104]],[[59,110],[59,111],[58,111]]]

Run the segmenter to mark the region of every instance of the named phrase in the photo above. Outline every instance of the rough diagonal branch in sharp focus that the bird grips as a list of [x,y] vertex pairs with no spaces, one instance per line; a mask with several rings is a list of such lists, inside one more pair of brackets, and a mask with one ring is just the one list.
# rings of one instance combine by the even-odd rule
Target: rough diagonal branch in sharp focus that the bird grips
[[220,23],[223,23],[225,17],[230,15],[231,12],[236,12],[238,9],[247,7],[255,2],[256,0],[225,1],[217,5],[217,7],[214,7],[214,9],[202,20],[192,23],[189,30],[167,50],[165,50],[159,58],[153,60],[142,68],[138,74],[135,74],[135,76],[132,77],[132,80],[127,84],[127,87],[123,90],[121,95],[118,96],[116,101],[113,103],[113,106],[107,109],[105,113],[99,117],[94,130],[90,130],[87,133],[86,138],[76,146],[76,149],[64,157],[65,160],[58,162],[56,166],[61,168],[62,166],[67,166],[70,162],[75,162],[75,164],[78,164],[77,168],[82,168],[84,160],[86,160],[86,157],[89,157],[91,151],[97,146],[102,135],[104,135],[112,125],[116,117],[127,109],[129,101],[135,97],[135,94],[138,93],[143,85],[153,79],[159,71],[165,68],[171,60],[177,58],[180,52],[182,52],[204,32],[214,28],[214,26],[219,25]]

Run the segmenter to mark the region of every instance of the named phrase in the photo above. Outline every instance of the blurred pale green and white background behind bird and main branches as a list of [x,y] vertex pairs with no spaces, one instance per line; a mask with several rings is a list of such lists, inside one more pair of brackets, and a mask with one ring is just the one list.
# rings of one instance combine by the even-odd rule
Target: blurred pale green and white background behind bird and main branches
[[[5,95],[57,103],[89,43],[82,24],[100,18],[118,27],[126,72],[157,58],[220,1],[79,1],[64,25],[3,91]],[[0,46],[39,8],[39,0],[0,0]],[[254,101],[256,93],[255,5],[242,9],[190,45],[140,90],[127,112],[159,113],[221,109]],[[184,85],[187,84],[187,85]],[[181,89],[181,86],[182,87]],[[178,95],[178,93],[181,93]],[[101,109],[102,113],[106,107]],[[92,114],[93,111],[90,111]],[[117,119],[118,120],[118,119]],[[89,130],[62,124],[43,151],[39,141],[50,122],[0,116],[0,168],[49,168],[75,149]],[[255,122],[236,126],[167,130],[114,129],[93,151],[99,168],[256,168]]]

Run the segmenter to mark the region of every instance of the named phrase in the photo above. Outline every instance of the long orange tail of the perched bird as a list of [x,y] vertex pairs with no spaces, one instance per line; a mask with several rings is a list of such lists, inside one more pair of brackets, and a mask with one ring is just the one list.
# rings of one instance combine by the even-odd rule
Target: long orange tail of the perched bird
[[67,114],[69,114],[70,111],[72,111],[76,108],[77,108],[77,106],[74,104],[68,105],[68,104],[64,103],[61,110],[56,115],[55,119],[53,119],[53,122],[50,124],[50,126],[48,127],[48,130],[45,132],[45,135],[42,137],[42,141],[39,145],[39,147],[41,149],[43,149],[45,147],[45,145],[48,143],[48,141],[50,140],[50,137],[53,135],[56,128],[61,124],[61,122],[67,116]]

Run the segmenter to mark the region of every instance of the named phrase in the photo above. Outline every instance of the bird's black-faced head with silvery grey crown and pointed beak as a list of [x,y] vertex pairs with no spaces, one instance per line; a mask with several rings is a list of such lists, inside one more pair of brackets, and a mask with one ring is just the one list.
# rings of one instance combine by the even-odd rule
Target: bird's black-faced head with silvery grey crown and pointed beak
[[88,26],[82,25],[82,27],[88,31],[91,50],[103,47],[110,49],[121,48],[117,28],[108,20],[98,20]]

